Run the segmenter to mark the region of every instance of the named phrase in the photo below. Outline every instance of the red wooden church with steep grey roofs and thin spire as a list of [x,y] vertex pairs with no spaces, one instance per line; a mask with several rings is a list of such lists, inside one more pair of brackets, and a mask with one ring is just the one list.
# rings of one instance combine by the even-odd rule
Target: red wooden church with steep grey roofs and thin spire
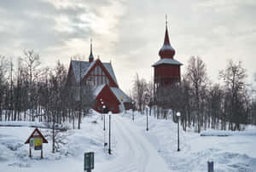
[[[71,60],[67,82],[90,86],[96,97],[94,109],[102,112],[102,105],[113,113],[128,109],[131,104],[129,96],[119,89],[117,79],[110,63],[103,63],[99,58],[94,60],[90,43],[89,61]],[[103,104],[102,104],[103,102]]]

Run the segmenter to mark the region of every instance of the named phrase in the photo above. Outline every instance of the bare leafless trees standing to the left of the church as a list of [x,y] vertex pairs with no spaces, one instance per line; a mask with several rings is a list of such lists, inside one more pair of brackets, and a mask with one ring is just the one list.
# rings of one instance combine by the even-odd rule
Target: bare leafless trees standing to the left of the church
[[33,50],[24,50],[16,66],[0,55],[0,121],[68,122],[73,128],[78,121],[80,128],[81,117],[94,103],[80,86],[67,84],[67,67],[60,61],[53,68],[42,67]]

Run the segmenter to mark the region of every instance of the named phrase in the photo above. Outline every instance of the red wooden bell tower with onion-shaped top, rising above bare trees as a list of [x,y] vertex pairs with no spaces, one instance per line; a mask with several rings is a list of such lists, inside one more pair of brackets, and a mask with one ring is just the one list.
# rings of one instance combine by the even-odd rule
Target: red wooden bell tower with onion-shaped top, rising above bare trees
[[[166,17],[167,18],[167,17]],[[154,89],[170,87],[172,83],[180,82],[180,66],[183,64],[175,60],[175,50],[169,40],[167,19],[166,34],[163,46],[159,51],[160,60],[154,63]]]

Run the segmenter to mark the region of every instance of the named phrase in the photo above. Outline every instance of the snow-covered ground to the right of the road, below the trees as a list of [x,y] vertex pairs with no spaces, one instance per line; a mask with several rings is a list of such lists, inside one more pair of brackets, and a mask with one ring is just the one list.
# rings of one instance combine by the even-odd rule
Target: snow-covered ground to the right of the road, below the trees
[[[126,120],[131,121],[131,112]],[[129,118],[129,119],[128,119]],[[207,161],[214,162],[215,171],[256,171],[256,127],[249,126],[242,132],[205,131],[205,135],[226,134],[230,136],[200,136],[180,130],[180,152],[177,152],[177,123],[158,120],[136,113],[134,123],[165,158],[170,171],[207,171]]]

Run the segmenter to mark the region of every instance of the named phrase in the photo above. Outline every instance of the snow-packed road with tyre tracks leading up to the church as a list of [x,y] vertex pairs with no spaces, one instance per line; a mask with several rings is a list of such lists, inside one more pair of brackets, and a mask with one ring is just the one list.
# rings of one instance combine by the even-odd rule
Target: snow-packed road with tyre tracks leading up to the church
[[113,135],[117,142],[113,154],[117,158],[101,164],[100,169],[112,172],[170,171],[145,134],[131,120],[119,115],[112,117]]

